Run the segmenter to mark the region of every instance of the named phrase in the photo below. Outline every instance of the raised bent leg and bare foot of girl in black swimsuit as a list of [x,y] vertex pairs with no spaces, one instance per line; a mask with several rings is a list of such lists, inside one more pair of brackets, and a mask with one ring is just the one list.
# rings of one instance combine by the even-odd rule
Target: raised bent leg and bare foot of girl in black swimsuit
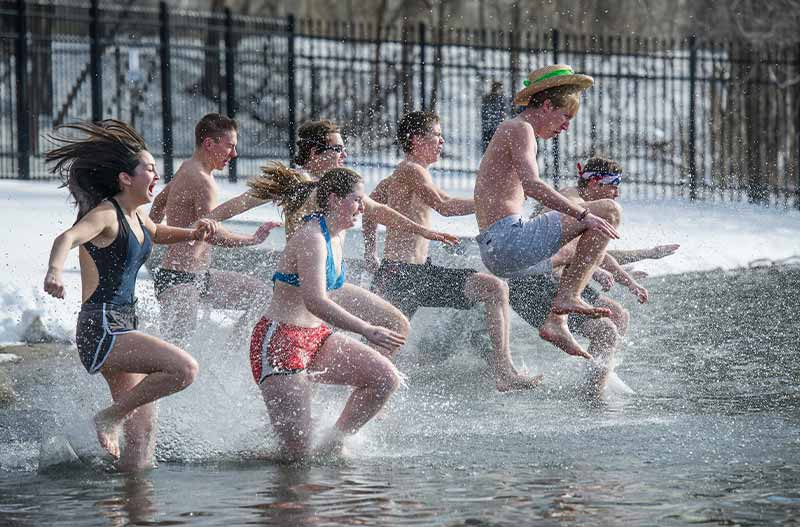
[[189,386],[197,376],[197,369],[191,355],[161,339],[139,331],[117,335],[114,349],[101,370],[112,393],[112,384],[119,382],[119,374],[146,376],[130,390],[120,391],[111,406],[95,415],[97,438],[103,448],[119,458],[119,427],[125,418],[140,406]]

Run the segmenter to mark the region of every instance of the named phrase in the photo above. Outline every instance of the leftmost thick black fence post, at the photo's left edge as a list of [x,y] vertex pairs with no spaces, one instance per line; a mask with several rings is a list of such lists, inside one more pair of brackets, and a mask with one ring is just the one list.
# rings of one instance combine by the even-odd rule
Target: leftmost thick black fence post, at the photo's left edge
[[28,8],[26,0],[17,0],[17,172],[22,179],[31,178],[31,107],[28,79]]

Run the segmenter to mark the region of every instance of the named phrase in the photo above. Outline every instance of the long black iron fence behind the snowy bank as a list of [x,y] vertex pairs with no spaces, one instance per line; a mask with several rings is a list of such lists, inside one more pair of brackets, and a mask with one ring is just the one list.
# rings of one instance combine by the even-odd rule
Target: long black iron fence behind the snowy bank
[[510,101],[527,72],[561,62],[596,84],[572,129],[540,145],[554,184],[602,154],[623,163],[631,196],[800,207],[796,47],[376,27],[131,0],[0,1],[0,15],[2,178],[49,177],[45,134],[103,117],[139,129],[169,177],[192,153],[195,121],[217,111],[240,122],[231,178],[290,159],[297,124],[327,117],[343,127],[350,162],[374,179],[401,157],[398,118],[425,108],[439,112],[447,141],[435,177],[466,189],[482,153],[489,86],[501,82],[499,100]]

